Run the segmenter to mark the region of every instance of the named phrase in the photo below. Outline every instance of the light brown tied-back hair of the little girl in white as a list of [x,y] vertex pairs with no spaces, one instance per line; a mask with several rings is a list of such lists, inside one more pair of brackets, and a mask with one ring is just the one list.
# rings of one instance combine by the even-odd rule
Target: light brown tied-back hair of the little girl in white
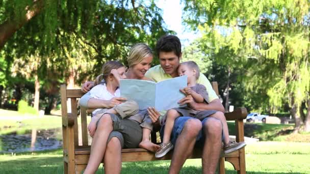
[[96,77],[95,85],[99,84],[102,81],[102,79],[104,79],[105,82],[107,83],[108,82],[107,79],[109,75],[111,74],[111,71],[113,69],[119,69],[121,67],[125,67],[125,66],[117,61],[109,61],[105,63],[104,65],[102,65],[101,74]]

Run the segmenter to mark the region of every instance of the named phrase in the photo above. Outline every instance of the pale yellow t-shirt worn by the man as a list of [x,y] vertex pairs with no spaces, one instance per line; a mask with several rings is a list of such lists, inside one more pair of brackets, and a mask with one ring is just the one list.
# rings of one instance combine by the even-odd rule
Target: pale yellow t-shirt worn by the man
[[[163,81],[172,78],[171,75],[166,74],[161,65],[154,66],[150,68],[148,71],[146,71],[145,76],[150,78],[151,80],[155,82]],[[196,81],[199,84],[202,84],[205,86],[206,92],[208,93],[209,100],[208,103],[211,101],[218,99],[218,96],[216,95],[215,91],[212,88],[212,85],[208,78],[205,77],[202,73],[200,73],[198,80]],[[166,110],[161,111],[161,117],[160,117],[160,122],[163,124],[163,115],[166,113]]]

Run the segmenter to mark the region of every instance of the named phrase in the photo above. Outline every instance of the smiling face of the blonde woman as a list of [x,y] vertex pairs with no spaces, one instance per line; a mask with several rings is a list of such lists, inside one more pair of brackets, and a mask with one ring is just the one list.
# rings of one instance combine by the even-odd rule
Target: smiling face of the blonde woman
[[144,57],[139,63],[131,67],[133,74],[139,79],[143,78],[146,71],[151,67],[153,56]]

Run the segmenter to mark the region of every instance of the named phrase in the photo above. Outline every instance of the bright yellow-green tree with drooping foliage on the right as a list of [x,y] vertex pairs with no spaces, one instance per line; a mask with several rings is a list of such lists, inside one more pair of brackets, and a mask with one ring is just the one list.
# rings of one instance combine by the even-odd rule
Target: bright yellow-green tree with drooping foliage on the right
[[[272,111],[288,103],[295,128],[310,131],[309,2],[185,1],[185,22],[197,26],[219,52],[228,47],[251,64],[245,69],[247,92],[264,89]],[[310,106],[306,104],[306,107]],[[307,109],[309,110],[309,109]]]

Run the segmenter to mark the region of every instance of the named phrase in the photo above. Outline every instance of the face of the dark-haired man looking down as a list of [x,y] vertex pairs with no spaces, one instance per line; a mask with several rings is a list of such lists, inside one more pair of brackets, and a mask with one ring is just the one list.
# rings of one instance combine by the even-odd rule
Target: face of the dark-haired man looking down
[[170,74],[172,77],[178,76],[177,68],[180,64],[181,56],[182,54],[180,57],[177,57],[173,51],[159,53],[159,61],[165,73]]

